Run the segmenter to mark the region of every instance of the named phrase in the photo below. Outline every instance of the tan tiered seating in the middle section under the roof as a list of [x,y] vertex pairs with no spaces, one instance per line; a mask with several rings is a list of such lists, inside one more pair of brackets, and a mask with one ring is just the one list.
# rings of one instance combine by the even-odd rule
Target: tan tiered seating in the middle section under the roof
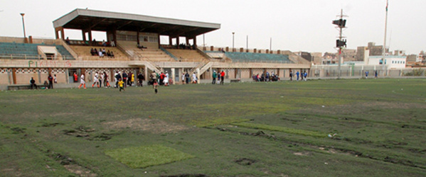
[[160,49],[146,48],[139,49],[137,48],[137,42],[132,41],[118,41],[119,45],[124,48],[128,53],[133,54],[135,57],[141,59],[147,59],[151,62],[174,62],[175,59],[171,58],[166,52],[163,52]]

